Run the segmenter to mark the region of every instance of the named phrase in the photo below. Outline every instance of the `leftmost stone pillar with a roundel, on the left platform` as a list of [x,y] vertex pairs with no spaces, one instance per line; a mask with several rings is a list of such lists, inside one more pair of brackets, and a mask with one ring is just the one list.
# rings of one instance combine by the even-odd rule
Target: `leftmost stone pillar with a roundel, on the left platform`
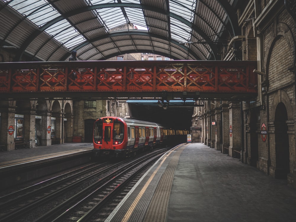
[[15,149],[15,139],[14,133],[12,135],[9,134],[8,128],[12,126],[15,129],[15,106],[7,103],[5,106],[1,104],[1,123],[0,123],[0,145],[4,145],[1,147],[4,151],[10,151]]

